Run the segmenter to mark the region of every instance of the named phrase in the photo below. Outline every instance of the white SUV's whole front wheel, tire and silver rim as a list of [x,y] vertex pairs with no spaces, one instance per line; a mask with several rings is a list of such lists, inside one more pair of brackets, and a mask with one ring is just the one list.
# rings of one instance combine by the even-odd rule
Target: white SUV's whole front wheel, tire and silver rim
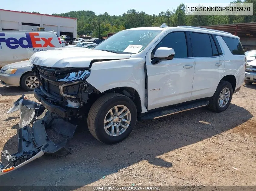
[[132,132],[137,121],[137,109],[127,96],[105,94],[93,103],[88,113],[88,128],[100,142],[114,144]]

